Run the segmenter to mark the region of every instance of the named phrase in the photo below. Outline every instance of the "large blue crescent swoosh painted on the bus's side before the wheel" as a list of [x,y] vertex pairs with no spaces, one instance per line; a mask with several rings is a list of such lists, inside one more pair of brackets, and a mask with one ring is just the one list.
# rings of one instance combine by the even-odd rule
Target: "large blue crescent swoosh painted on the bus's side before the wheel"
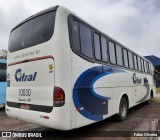
[[93,89],[94,83],[103,76],[125,72],[111,66],[96,66],[84,71],[76,80],[73,89],[73,102],[77,111],[84,117],[99,121],[108,114],[110,97],[101,96]]

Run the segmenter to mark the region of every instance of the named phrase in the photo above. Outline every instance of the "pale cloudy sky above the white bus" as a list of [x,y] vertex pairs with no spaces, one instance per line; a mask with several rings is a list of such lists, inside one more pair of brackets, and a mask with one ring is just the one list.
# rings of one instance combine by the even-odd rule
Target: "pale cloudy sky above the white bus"
[[8,48],[10,31],[19,22],[55,5],[141,56],[160,57],[160,0],[0,0],[0,49]]

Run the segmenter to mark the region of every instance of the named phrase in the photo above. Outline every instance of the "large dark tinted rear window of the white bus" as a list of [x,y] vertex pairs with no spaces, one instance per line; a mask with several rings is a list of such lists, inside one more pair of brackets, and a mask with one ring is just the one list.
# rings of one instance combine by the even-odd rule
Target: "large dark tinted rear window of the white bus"
[[14,52],[51,39],[54,32],[55,11],[37,16],[14,29],[9,38],[9,51]]

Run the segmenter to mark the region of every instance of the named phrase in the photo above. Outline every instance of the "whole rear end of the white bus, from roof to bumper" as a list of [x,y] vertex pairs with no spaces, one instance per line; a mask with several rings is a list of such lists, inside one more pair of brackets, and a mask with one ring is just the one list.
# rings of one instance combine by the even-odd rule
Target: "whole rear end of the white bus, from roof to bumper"
[[[53,50],[58,6],[40,12],[17,25],[10,34],[7,75],[8,116],[66,130],[69,105],[55,84]],[[66,120],[65,120],[66,119]],[[62,122],[61,120],[64,120]]]

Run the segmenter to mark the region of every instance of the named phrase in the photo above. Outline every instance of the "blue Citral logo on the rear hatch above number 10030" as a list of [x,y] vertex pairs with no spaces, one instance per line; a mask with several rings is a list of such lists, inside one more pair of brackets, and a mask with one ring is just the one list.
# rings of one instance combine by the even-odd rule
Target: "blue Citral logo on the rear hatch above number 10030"
[[25,73],[21,72],[21,69],[17,69],[15,73],[15,79],[17,82],[25,82],[25,81],[35,81],[37,72],[34,72],[33,74],[26,75]]

